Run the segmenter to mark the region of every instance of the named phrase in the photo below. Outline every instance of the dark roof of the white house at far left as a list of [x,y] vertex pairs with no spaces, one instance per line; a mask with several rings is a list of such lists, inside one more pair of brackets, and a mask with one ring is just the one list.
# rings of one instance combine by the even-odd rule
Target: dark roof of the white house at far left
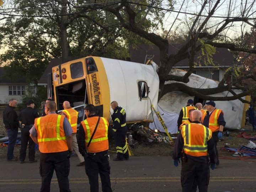
[[26,84],[25,76],[11,78],[5,67],[0,67],[0,84]]

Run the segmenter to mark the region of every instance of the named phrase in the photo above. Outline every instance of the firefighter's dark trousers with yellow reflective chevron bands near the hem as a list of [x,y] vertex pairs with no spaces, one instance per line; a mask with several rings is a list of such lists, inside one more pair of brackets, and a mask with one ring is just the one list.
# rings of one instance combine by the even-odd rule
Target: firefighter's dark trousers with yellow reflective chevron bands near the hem
[[126,144],[126,131],[116,132],[114,140],[116,144],[117,159],[129,159],[128,146]]

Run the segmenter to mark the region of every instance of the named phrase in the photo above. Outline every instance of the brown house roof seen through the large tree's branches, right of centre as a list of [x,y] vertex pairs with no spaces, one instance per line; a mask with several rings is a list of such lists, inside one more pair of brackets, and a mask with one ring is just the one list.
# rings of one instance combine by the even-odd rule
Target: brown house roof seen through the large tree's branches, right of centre
[[[182,45],[178,44],[169,44],[169,55],[171,54],[176,54]],[[144,63],[145,62],[145,57],[146,55],[154,55],[154,62],[158,65],[160,65],[160,50],[157,46],[155,45],[147,45],[147,44],[142,44],[139,46],[130,46],[129,47],[129,52],[130,52],[130,60],[132,62],[137,62],[137,63]],[[199,52],[195,55],[195,61],[198,63],[199,59]],[[213,62],[215,65],[218,65],[220,67],[222,66],[230,66],[234,62],[234,56],[229,52],[228,49],[226,48],[216,48],[216,53],[213,55]],[[206,65],[204,62],[201,62],[202,67],[205,67]],[[210,65],[208,65],[211,67]],[[188,58],[178,62],[174,66],[175,68],[188,68]]]

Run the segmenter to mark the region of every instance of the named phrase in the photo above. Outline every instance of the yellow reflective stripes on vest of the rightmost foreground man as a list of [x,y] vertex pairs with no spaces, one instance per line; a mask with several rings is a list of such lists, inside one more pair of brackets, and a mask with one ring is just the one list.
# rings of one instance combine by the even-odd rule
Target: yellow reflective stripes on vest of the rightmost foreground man
[[[200,124],[201,125],[201,124]],[[183,149],[186,152],[192,152],[192,153],[197,153],[197,152],[207,152],[207,141],[210,139],[211,137],[211,133],[209,133],[209,129],[206,128],[205,126],[202,126],[204,129],[204,140],[202,144],[198,144],[198,145],[192,145],[191,142],[191,126],[193,126],[193,124],[187,124],[186,126],[182,127],[182,137],[184,140],[184,145],[183,145]],[[191,153],[188,153],[191,154]],[[207,153],[206,153],[207,155]],[[195,155],[197,156],[197,155]]]

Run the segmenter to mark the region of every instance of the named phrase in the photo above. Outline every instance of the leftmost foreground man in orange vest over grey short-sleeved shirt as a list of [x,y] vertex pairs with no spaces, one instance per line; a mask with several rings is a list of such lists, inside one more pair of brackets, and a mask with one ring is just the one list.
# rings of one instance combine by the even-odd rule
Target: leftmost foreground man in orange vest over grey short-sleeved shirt
[[30,129],[30,137],[38,144],[40,151],[41,192],[50,191],[50,182],[55,170],[60,192],[69,190],[69,158],[72,148],[72,128],[68,119],[55,113],[56,103],[45,105],[46,116],[36,118]]

